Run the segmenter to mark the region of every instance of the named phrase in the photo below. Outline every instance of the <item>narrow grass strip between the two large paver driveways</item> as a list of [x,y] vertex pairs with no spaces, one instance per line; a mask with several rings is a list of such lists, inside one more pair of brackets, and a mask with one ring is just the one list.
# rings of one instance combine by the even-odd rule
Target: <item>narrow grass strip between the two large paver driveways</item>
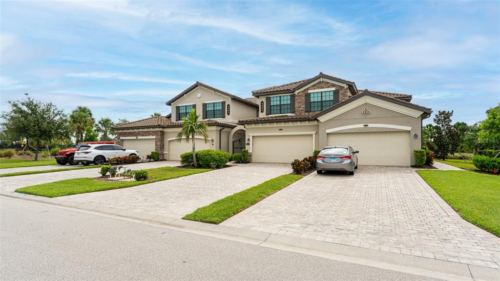
[[296,174],[280,175],[264,181],[259,185],[239,191],[204,207],[200,207],[182,218],[219,224],[301,177],[301,175]]

